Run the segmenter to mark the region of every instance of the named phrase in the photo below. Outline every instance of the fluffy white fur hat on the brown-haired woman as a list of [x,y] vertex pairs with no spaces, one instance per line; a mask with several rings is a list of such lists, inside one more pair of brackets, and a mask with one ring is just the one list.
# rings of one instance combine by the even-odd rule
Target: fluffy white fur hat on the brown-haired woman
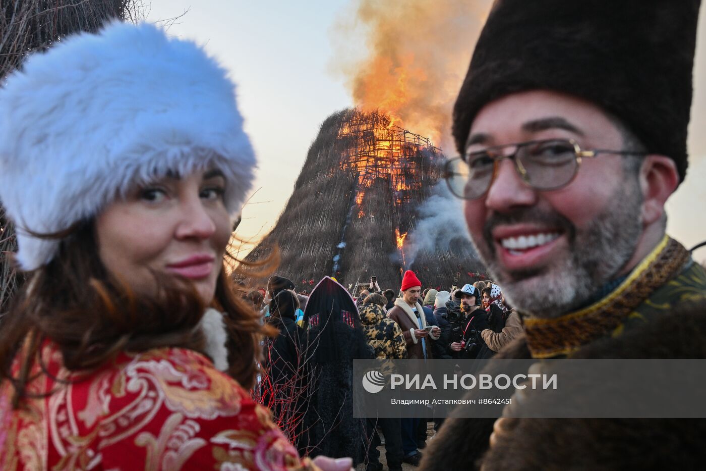
[[23,228],[64,230],[170,171],[216,165],[237,217],[255,164],[225,69],[155,25],[68,37],[0,88],[0,201],[25,270],[51,261],[59,242]]

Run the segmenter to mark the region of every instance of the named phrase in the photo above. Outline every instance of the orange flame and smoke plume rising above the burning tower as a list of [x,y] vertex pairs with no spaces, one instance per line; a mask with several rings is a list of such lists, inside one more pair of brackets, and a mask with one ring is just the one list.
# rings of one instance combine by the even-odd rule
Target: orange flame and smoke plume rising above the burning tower
[[[354,0],[337,25],[334,69],[354,103],[381,110],[391,125],[414,129],[451,149],[451,108],[468,68],[490,0]],[[364,31],[361,31],[361,28]],[[355,57],[365,37],[368,54]]]

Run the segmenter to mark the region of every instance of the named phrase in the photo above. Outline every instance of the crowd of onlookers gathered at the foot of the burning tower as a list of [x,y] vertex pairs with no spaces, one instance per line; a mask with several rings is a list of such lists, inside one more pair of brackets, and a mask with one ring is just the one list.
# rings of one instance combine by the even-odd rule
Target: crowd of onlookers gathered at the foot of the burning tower
[[[382,469],[378,429],[390,470],[419,465],[427,423],[354,419],[354,359],[488,359],[522,332],[498,284],[423,289],[411,270],[397,289],[383,290],[372,277],[368,287],[348,293],[325,277],[306,296],[291,280],[274,276],[243,297],[279,330],[266,344],[267,373],[256,390],[280,429],[301,454],[350,456],[368,470]],[[435,429],[441,423],[436,419]]]

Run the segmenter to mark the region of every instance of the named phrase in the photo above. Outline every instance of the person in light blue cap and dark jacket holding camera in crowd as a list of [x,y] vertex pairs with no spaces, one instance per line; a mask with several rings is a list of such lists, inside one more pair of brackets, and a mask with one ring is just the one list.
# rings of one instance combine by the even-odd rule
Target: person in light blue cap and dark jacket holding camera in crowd
[[480,308],[480,293],[472,284],[463,285],[454,297],[460,303],[446,303],[451,325],[448,353],[456,359],[475,359],[485,344],[479,332],[488,328],[488,313]]

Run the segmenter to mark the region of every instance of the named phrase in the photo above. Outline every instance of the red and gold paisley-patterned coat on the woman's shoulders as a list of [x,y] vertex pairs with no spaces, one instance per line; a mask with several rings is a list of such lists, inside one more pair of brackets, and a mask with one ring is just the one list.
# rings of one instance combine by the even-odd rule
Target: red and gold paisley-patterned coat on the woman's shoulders
[[13,410],[12,386],[0,385],[3,470],[316,469],[195,351],[121,354],[88,376],[66,371],[51,342],[40,356],[29,385],[37,397]]

